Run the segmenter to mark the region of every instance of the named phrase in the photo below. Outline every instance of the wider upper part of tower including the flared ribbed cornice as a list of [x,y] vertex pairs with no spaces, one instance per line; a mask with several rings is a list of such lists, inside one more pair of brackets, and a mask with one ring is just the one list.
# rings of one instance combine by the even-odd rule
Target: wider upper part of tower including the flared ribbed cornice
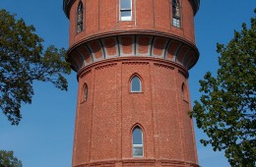
[[200,0],[63,0],[70,20],[68,61],[78,72],[103,59],[147,56],[189,70],[199,57],[199,5]]

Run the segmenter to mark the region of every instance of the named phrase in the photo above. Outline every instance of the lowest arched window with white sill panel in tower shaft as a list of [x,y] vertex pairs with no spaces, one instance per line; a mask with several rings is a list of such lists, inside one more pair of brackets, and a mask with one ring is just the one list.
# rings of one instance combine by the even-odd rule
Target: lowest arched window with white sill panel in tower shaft
[[133,130],[133,157],[143,157],[143,133],[140,127]]

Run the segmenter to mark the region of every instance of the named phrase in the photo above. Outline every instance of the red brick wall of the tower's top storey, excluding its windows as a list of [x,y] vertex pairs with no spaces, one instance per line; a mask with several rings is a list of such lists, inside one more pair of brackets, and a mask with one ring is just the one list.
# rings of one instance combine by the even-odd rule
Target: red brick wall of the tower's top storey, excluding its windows
[[82,0],[84,30],[76,32],[79,0],[70,10],[70,46],[95,35],[127,29],[151,29],[180,36],[195,43],[194,11],[190,0],[181,0],[181,28],[172,26],[171,0],[132,0],[132,21],[119,21],[119,0]]

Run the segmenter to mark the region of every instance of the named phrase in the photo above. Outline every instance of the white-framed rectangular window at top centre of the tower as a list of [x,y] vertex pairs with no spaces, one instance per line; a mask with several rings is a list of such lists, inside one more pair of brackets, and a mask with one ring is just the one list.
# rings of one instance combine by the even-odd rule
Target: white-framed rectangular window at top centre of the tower
[[120,20],[132,20],[132,0],[120,0]]

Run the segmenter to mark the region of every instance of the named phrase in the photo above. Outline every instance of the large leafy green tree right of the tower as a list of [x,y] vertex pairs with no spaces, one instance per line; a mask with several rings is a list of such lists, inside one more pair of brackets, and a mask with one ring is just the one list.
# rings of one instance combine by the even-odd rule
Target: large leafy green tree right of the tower
[[[256,10],[254,11],[256,13]],[[191,116],[209,139],[204,145],[224,150],[231,166],[253,167],[256,160],[256,18],[242,25],[227,45],[217,44],[220,69],[200,81],[201,102]]]

